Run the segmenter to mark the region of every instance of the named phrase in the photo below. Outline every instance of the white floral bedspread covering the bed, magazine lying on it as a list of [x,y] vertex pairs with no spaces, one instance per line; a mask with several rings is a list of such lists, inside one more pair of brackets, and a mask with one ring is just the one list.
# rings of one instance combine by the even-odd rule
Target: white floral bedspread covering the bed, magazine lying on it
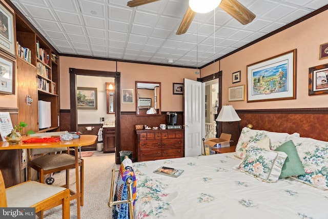
[[[292,178],[262,182],[233,170],[239,162],[226,153],[134,163],[135,218],[328,218],[328,190]],[[161,166],[184,172],[153,173]]]

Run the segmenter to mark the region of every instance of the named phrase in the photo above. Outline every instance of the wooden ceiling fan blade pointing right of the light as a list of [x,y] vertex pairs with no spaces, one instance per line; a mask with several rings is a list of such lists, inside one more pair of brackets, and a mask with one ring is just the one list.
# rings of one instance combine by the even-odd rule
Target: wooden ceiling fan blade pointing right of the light
[[241,5],[237,0],[222,0],[219,7],[243,25],[251,23],[256,17],[253,12]]

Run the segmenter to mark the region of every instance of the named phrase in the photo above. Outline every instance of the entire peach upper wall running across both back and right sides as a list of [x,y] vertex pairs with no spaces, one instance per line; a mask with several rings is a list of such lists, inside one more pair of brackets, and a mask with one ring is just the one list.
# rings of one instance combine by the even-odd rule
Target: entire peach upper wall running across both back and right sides
[[[328,59],[319,60],[319,46],[327,43],[328,29],[324,11],[315,17],[279,32],[255,45],[245,48],[233,55],[201,69],[201,77],[222,70],[222,104],[231,104],[235,109],[279,109],[327,107],[327,95],[308,95],[309,68],[326,64]],[[284,101],[268,101],[247,103],[245,101],[228,102],[228,88],[247,85],[247,65],[263,59],[297,49],[296,52],[296,99]],[[115,71],[115,62],[97,61],[95,59],[60,57],[60,108],[69,109],[69,68]],[[232,84],[232,73],[241,70],[241,82]],[[172,83],[182,83],[183,78],[196,79],[194,69],[173,68],[166,66],[144,65],[134,63],[117,63],[117,71],[121,72],[121,88],[135,88],[135,81],[161,82],[162,111],[182,111],[182,95],[172,95]],[[247,87],[247,86],[246,86]],[[247,95],[247,94],[245,94]],[[122,104],[122,111],[134,111],[133,104]]]

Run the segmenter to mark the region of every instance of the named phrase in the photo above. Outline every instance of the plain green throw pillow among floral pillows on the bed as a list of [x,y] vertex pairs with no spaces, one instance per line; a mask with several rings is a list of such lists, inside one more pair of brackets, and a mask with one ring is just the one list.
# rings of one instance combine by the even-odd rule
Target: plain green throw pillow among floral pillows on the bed
[[283,143],[275,151],[282,151],[288,155],[282,166],[279,178],[305,174],[304,167],[292,140]]

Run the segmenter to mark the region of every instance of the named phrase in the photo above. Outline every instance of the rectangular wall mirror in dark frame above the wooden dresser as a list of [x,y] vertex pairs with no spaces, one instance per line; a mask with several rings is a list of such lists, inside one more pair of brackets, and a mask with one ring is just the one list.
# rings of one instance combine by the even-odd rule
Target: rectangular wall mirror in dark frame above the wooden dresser
[[135,82],[136,115],[160,115],[160,82]]

